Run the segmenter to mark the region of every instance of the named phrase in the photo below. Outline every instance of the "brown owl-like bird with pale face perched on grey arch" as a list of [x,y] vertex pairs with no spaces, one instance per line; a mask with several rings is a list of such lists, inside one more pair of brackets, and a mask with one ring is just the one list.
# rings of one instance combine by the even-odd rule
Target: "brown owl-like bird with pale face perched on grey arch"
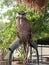
[[23,63],[25,64],[29,52],[29,44],[30,41],[32,40],[32,26],[29,23],[29,21],[25,18],[25,12],[23,11],[17,13],[16,28],[17,28],[17,36],[24,44],[25,57]]

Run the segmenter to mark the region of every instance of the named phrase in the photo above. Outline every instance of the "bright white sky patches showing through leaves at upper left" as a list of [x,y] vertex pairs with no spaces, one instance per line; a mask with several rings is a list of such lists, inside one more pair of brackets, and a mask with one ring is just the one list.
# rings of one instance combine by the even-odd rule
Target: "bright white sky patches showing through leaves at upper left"
[[[17,4],[17,3],[15,1],[13,1],[13,4]],[[13,5],[9,6],[9,7],[7,7],[7,6],[4,5],[2,9],[0,8],[0,14],[4,14],[5,12],[7,12],[7,10],[11,10],[12,8],[13,8]],[[8,20],[8,16],[6,16],[6,17],[2,16],[2,19],[0,19],[0,21],[10,22],[10,20]]]

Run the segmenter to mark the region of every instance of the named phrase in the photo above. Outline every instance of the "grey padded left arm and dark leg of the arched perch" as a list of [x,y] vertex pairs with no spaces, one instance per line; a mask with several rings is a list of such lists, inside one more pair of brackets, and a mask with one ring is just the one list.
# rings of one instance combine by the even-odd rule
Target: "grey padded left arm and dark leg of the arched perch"
[[12,54],[13,54],[14,50],[20,46],[20,44],[21,44],[21,42],[18,39],[18,40],[15,40],[13,42],[13,44],[9,47],[9,51],[10,51],[9,60],[8,60],[9,65],[12,65]]

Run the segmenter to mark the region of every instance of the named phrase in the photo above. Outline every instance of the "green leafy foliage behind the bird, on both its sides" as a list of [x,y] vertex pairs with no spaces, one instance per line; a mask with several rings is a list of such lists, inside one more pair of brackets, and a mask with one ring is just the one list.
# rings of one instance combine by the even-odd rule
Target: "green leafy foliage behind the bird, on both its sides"
[[[6,0],[5,0],[6,1]],[[7,48],[16,38],[16,11],[27,11],[26,18],[32,25],[33,39],[49,37],[49,2],[45,10],[40,14],[38,11],[26,9],[22,4],[13,6],[12,9],[3,13],[4,17],[8,16],[10,22],[5,23],[5,27],[0,30],[0,48]],[[4,4],[7,5],[7,4]],[[1,27],[1,26],[0,26]]]

